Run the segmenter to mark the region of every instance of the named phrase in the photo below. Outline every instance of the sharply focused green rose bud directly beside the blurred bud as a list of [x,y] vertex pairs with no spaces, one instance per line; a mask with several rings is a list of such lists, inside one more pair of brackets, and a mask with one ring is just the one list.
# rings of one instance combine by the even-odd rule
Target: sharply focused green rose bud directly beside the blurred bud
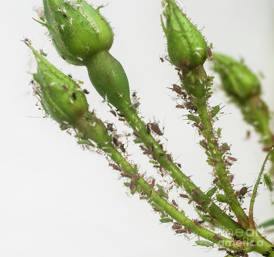
[[167,52],[172,64],[178,68],[194,68],[203,65],[207,58],[207,44],[202,34],[188,20],[174,0],[165,0],[163,15],[166,27]]

